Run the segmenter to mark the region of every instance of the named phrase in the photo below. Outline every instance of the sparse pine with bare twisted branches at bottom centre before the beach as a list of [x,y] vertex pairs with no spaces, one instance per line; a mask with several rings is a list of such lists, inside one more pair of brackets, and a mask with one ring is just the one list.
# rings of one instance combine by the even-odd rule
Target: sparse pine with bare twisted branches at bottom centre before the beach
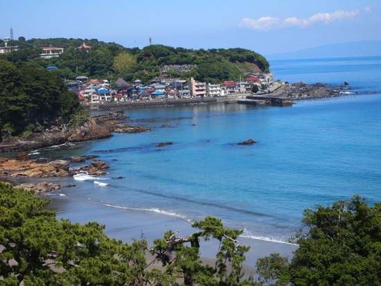
[[[240,246],[236,240],[242,231],[224,228],[221,220],[215,217],[205,217],[205,220],[195,222],[193,227],[200,231],[186,238],[176,238],[177,232],[168,231],[163,239],[154,240],[151,251],[167,267],[167,272],[184,278],[185,285],[252,283],[252,277],[242,279],[242,263],[245,253],[249,251],[249,247]],[[219,242],[214,267],[203,265],[200,260],[200,238]]]

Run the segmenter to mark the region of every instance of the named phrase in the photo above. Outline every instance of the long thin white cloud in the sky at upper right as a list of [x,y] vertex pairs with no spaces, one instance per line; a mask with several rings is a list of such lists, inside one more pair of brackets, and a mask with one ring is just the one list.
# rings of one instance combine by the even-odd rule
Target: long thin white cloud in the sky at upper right
[[[365,8],[364,12],[371,13],[371,8]],[[355,16],[360,15],[360,10],[354,11],[342,11],[338,10],[331,13],[317,13],[308,18],[296,18],[290,17],[284,20],[274,17],[261,17],[259,19],[242,19],[240,26],[246,28],[252,28],[254,30],[274,30],[287,27],[299,27],[305,28],[312,24],[324,23],[329,24],[333,21],[339,21],[344,19],[353,19]]]

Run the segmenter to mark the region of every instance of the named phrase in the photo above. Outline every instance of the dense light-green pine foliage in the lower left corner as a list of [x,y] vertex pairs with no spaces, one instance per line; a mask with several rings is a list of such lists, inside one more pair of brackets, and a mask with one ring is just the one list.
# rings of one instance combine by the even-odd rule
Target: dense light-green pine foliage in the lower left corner
[[96,222],[58,222],[55,213],[44,210],[47,204],[47,199],[0,183],[3,283],[135,285],[144,277],[145,242],[128,245],[108,238],[105,226]]

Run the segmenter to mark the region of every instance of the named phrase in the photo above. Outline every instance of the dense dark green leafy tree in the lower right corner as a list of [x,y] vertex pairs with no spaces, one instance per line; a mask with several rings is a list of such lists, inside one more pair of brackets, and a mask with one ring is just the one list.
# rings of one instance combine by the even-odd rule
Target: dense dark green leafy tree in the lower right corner
[[262,262],[263,280],[279,278],[298,286],[381,285],[380,203],[368,206],[356,195],[349,202],[317,205],[304,211],[303,223],[308,232],[296,236],[299,249],[291,262]]

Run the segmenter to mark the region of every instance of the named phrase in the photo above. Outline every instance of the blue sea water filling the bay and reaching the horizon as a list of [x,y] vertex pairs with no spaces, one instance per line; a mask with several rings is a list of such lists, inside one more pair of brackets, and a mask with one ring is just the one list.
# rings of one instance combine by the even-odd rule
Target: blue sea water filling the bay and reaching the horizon
[[[275,80],[346,81],[353,93],[292,107],[127,109],[133,125],[152,132],[42,150],[66,159],[96,154],[111,166],[102,177],[61,179],[76,188],[57,194],[188,222],[212,215],[245,236],[274,241],[294,235],[303,210],[315,204],[355,194],[380,202],[381,57],[270,65]],[[258,143],[237,145],[249,138]],[[172,145],[157,147],[162,142]]]

